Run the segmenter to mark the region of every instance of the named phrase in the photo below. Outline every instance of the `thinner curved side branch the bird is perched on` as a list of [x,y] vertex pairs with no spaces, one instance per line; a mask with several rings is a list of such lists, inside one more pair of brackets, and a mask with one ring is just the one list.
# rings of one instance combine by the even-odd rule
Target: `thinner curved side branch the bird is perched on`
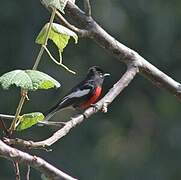
[[128,66],[128,69],[126,73],[122,76],[122,78],[113,86],[113,88],[109,90],[109,92],[99,102],[95,104],[96,108],[90,107],[84,112],[84,114],[71,118],[71,120],[68,121],[63,128],[55,132],[50,138],[39,142],[8,138],[5,138],[4,141],[11,145],[21,145],[28,148],[46,148],[48,146],[51,146],[56,141],[67,135],[72,128],[85,121],[91,115],[95,114],[102,108],[104,109],[104,111],[106,111],[107,106],[121,93],[121,91],[123,91],[124,88],[128,86],[128,84],[132,81],[137,72],[137,67],[133,65]]

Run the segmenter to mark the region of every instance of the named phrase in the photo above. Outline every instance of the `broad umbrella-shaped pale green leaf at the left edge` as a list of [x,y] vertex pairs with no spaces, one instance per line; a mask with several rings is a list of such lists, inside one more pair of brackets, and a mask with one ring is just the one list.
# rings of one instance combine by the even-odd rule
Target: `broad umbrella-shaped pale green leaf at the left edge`
[[35,70],[14,70],[5,73],[0,77],[0,84],[3,89],[9,89],[10,86],[16,85],[29,91],[60,87],[58,81],[43,72]]

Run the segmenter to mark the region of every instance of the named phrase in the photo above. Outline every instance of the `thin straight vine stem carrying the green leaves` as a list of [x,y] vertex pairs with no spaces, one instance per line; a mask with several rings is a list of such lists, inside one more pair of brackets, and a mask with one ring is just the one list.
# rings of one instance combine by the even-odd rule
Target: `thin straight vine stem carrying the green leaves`
[[[39,63],[40,63],[40,60],[42,58],[42,55],[43,55],[43,52],[44,52],[44,46],[47,45],[47,42],[48,42],[48,37],[49,37],[49,34],[50,34],[50,30],[51,30],[51,26],[52,26],[52,23],[54,21],[54,18],[55,18],[55,14],[56,14],[56,8],[55,7],[51,7],[52,8],[52,14],[51,14],[51,17],[50,17],[50,21],[49,21],[49,26],[48,26],[48,29],[47,29],[47,33],[46,33],[46,37],[45,37],[45,42],[44,44],[41,46],[41,49],[38,53],[38,56],[35,60],[35,64],[33,66],[33,70],[36,70]],[[12,123],[11,123],[11,126],[10,128],[8,129],[8,132],[9,132],[9,135],[12,134],[12,132],[16,129],[16,124],[17,124],[17,121],[18,121],[18,117],[21,113],[21,110],[22,110],[22,107],[24,105],[24,102],[25,102],[25,99],[27,97],[27,93],[28,91],[27,90],[22,90],[21,92],[21,98],[20,98],[20,101],[19,101],[19,104],[18,104],[18,107],[16,109],[16,114],[15,114],[15,118],[13,119]]]

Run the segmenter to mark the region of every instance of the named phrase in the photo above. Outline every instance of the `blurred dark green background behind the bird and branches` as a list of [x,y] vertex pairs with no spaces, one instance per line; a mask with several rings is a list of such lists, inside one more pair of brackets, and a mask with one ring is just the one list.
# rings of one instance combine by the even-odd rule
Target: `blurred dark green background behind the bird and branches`
[[[93,17],[110,34],[139,52],[149,62],[181,81],[180,0],[91,0]],[[82,7],[82,1],[78,2]],[[2,1],[0,6],[0,74],[32,67],[39,46],[34,43],[49,13],[37,0]],[[52,51],[56,48],[50,43]],[[57,56],[57,53],[54,54]],[[120,78],[125,65],[89,39],[70,42],[64,63],[77,71],[66,72],[45,54],[39,66],[62,84],[59,90],[30,93],[23,112],[46,111],[92,65],[111,73],[105,92]],[[0,113],[14,114],[19,90],[0,91]],[[63,117],[64,112],[59,116]],[[110,105],[54,144],[52,152],[30,151],[81,180],[181,179],[180,102],[137,76]],[[42,140],[55,130],[33,127],[18,137]],[[22,167],[23,168],[23,167]],[[22,176],[25,169],[22,171]],[[14,179],[12,164],[0,161],[0,179]],[[24,179],[24,178],[22,178]],[[31,179],[40,174],[32,170]]]

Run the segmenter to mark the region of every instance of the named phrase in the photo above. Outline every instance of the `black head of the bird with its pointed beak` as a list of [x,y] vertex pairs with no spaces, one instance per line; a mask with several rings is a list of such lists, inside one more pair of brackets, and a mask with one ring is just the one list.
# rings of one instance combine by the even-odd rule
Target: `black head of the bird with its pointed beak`
[[98,83],[103,83],[105,77],[110,76],[109,73],[105,73],[101,68],[93,66],[89,68],[87,78],[96,80]]

